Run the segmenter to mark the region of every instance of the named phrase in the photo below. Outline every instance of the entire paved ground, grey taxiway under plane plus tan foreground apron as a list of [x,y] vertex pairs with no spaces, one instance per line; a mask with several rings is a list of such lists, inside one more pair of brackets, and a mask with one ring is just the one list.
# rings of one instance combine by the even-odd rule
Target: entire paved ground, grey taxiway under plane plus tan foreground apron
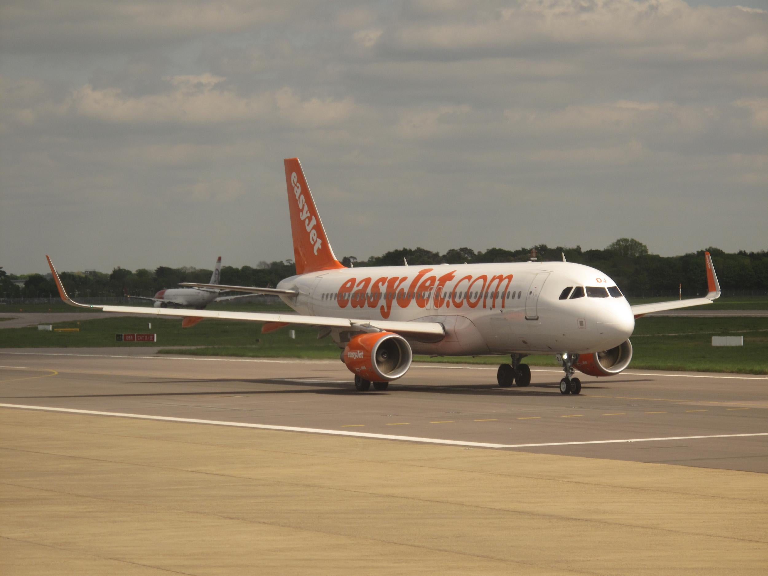
[[[338,361],[126,351],[0,350],[0,402],[504,444],[768,432],[766,376],[561,396],[558,372],[498,389],[422,365],[361,393]],[[0,573],[764,574],[768,477],[727,468],[766,456],[766,436],[519,451],[0,408]]]

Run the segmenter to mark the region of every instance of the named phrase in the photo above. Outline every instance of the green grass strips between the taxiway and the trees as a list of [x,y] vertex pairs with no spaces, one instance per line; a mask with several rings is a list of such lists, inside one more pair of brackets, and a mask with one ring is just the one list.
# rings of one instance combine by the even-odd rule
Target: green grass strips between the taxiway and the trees
[[[81,322],[55,323],[55,328],[79,328],[77,333],[39,331],[37,326],[0,329],[0,348],[46,347],[143,347],[192,346],[161,349],[161,353],[195,356],[288,357],[338,359],[339,349],[317,330],[296,326],[296,339],[288,329],[261,334],[260,324],[204,320],[182,329],[179,319],[114,317]],[[117,333],[157,333],[157,343],[118,343]],[[711,336],[733,333],[744,336],[744,346],[713,347]],[[674,334],[680,336],[672,336]],[[631,368],[690,370],[696,372],[742,372],[768,374],[768,318],[644,317],[637,319],[632,336]],[[461,362],[496,365],[503,356],[472,358],[415,356],[419,362]],[[554,356],[528,356],[534,366],[557,366]]]

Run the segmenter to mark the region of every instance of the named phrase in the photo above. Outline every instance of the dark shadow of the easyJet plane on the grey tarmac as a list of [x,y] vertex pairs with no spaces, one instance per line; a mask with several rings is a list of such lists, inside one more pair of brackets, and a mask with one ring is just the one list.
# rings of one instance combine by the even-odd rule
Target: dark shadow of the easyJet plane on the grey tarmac
[[[305,376],[306,378],[306,376]],[[307,378],[308,380],[310,378]],[[552,389],[557,390],[559,388],[558,383],[537,383],[531,384],[525,388],[511,388],[511,389],[499,389],[494,384],[455,384],[455,385],[418,385],[418,384],[390,384],[391,388],[386,391],[374,391],[358,392],[354,388],[353,382],[317,382],[316,379],[311,379],[311,382],[302,382],[302,378],[288,379],[257,379],[257,380],[245,380],[245,379],[183,379],[183,380],[157,380],[157,381],[144,381],[144,382],[124,382],[125,384],[201,384],[201,383],[240,383],[240,384],[272,384],[286,386],[286,389],[280,390],[206,390],[206,391],[194,391],[189,390],[185,392],[130,392],[124,394],[70,394],[70,395],[56,395],[56,396],[5,396],[5,398],[35,398],[35,399],[55,399],[55,398],[140,398],[142,396],[259,396],[264,394],[338,394],[339,396],[372,396],[389,394],[390,392],[426,392],[430,394],[482,394],[488,396],[552,396]],[[651,379],[634,379],[634,380],[614,380],[611,383],[624,384],[628,382],[651,382]],[[610,389],[611,386],[584,386],[583,390],[590,389]],[[537,389],[546,389],[547,392],[539,391]]]

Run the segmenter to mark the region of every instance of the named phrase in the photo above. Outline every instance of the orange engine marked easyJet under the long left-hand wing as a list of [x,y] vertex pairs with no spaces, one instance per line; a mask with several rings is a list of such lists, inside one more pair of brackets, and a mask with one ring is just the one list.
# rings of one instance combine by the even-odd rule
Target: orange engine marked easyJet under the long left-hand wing
[[371,382],[390,382],[411,367],[411,346],[402,336],[374,332],[353,336],[341,356],[353,374]]

